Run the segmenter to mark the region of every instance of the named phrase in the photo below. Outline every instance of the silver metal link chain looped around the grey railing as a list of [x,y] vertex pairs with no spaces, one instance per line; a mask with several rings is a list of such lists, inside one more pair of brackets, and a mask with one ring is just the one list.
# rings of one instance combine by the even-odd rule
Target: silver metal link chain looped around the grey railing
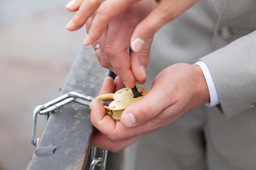
[[[32,127],[31,127],[31,136],[30,140],[31,143],[36,146],[39,138],[36,139],[36,121],[37,121],[37,115],[45,115],[45,124],[47,123],[47,120],[49,118],[49,115],[54,110],[57,110],[58,108],[61,108],[62,106],[65,106],[71,102],[79,103],[84,106],[90,106],[90,102],[95,99],[94,97],[83,95],[81,93],[77,92],[69,92],[65,95],[62,95],[44,105],[39,105],[34,109],[33,117],[32,117]],[[107,106],[107,103],[99,100],[104,106]],[[108,155],[108,150],[102,150],[102,157],[96,157],[96,150],[97,148],[92,146],[92,162],[90,164],[90,170],[94,170],[95,166],[101,167],[101,170],[105,170],[106,168],[106,160]]]

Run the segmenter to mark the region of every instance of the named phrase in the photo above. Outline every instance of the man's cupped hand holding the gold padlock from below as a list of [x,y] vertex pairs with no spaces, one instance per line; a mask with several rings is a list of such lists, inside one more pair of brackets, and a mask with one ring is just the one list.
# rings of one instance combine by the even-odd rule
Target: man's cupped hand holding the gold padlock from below
[[[113,93],[121,85],[118,77],[115,82],[107,78],[101,93]],[[208,102],[209,91],[201,68],[174,64],[157,75],[149,93],[128,106],[120,121],[106,115],[103,105],[94,100],[91,121],[99,131],[92,139],[92,145],[117,152]]]

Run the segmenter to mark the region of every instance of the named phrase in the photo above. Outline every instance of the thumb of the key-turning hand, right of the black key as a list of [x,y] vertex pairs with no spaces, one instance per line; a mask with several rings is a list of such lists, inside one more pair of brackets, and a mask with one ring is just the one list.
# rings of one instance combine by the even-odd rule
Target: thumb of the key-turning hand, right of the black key
[[149,62],[152,41],[153,37],[150,37],[138,52],[130,50],[132,74],[139,84],[144,84],[146,82],[146,67]]

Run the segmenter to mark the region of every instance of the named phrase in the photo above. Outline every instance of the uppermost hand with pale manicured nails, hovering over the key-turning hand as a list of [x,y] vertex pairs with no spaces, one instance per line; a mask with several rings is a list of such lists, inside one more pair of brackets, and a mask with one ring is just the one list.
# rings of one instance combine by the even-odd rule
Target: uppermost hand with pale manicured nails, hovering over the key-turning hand
[[[139,1],[145,0],[75,0],[74,3],[70,3],[72,5],[66,6],[70,11],[78,10],[72,21],[67,24],[67,29],[74,31],[81,28],[88,18],[95,14],[92,27],[85,40],[85,45],[90,45],[100,38],[113,18],[123,13],[131,4]],[[152,37],[164,24],[180,16],[197,1],[157,0],[159,5],[144,18],[132,33],[130,43],[132,50],[139,51],[145,40]],[[145,2],[146,4],[141,10],[148,8],[149,1]],[[97,13],[94,13],[96,10]],[[138,11],[132,12],[137,13]]]

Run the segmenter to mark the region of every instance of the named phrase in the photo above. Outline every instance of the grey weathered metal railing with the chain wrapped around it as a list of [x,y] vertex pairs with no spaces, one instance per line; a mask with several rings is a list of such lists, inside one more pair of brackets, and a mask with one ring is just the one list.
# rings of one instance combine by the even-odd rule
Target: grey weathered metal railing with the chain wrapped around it
[[[110,74],[112,73],[99,65],[93,49],[82,46],[59,96],[75,91],[96,97],[103,79]],[[27,170],[84,170],[90,167],[90,162],[86,164],[94,133],[90,122],[90,108],[72,101],[61,108],[54,106],[54,112],[49,118],[46,116],[47,123],[39,141],[35,139],[36,129],[32,129],[34,138],[31,141],[36,148]]]

